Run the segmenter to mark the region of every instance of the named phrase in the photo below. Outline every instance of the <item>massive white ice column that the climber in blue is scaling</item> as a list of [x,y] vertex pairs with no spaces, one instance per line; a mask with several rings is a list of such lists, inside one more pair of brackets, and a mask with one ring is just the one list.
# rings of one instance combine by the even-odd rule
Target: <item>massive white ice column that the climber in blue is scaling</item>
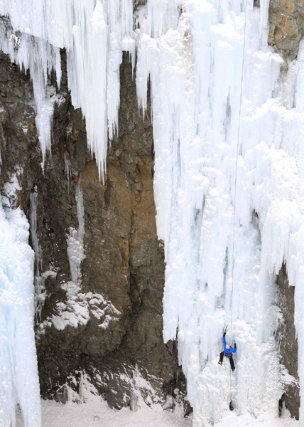
[[277,412],[273,302],[284,259],[291,284],[299,278],[298,295],[303,288],[303,258],[296,255],[303,253],[303,59],[300,50],[281,79],[282,59],[265,43],[266,2],[261,10],[250,0],[191,0],[183,7],[178,27],[161,36],[142,21],[136,83],[145,110],[151,79],[157,226],[166,261],[163,334],[174,339],[178,330],[194,422],[203,426],[219,421],[230,399],[229,367],[219,368],[217,357],[231,319],[227,337],[238,344],[234,405],[255,415],[265,407]]

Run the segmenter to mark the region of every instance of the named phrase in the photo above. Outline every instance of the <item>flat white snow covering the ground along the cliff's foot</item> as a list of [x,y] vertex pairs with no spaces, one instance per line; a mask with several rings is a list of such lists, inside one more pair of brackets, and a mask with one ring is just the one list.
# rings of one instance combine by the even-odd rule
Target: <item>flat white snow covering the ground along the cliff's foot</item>
[[[191,427],[192,418],[184,418],[180,413],[163,411],[161,406],[143,406],[139,411],[133,412],[129,408],[116,411],[110,409],[106,402],[100,401],[98,397],[87,401],[87,404],[75,404],[69,402],[65,405],[54,401],[42,401],[42,427]],[[281,418],[275,418],[269,413],[262,413],[258,419],[244,413],[224,414],[224,418],[216,427],[299,427],[288,414],[283,413]],[[23,427],[19,418],[16,427]],[[211,427],[208,425],[206,427]]]

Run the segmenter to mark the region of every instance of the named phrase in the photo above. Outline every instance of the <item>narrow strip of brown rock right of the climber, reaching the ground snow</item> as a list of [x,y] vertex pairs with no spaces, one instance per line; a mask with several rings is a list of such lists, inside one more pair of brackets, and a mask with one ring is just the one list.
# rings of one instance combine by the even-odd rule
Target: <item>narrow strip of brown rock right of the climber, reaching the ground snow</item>
[[288,383],[282,401],[291,412],[291,416],[299,418],[300,389],[298,384],[298,341],[295,337],[294,312],[295,290],[289,286],[286,266],[283,265],[277,276],[278,297],[277,305],[281,309],[283,319],[278,328],[280,353],[284,367],[288,371]]

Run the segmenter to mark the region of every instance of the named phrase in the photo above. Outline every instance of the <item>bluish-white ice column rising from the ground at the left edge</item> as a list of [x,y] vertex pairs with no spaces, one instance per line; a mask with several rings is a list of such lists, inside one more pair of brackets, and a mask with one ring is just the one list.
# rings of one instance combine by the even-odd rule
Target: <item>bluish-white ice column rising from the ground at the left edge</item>
[[40,427],[40,387],[33,331],[34,253],[20,208],[0,205],[0,426]]

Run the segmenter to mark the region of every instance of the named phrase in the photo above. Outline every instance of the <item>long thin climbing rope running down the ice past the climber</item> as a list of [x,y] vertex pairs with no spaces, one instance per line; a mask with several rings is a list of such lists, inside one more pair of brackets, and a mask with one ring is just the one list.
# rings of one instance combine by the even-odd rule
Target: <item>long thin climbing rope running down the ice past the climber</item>
[[[244,62],[245,62],[245,45],[246,45],[246,23],[247,23],[247,2],[245,0],[245,23],[244,23],[244,44],[243,44],[243,60],[241,62],[241,93],[239,96],[239,125],[237,129],[237,158],[235,162],[235,178],[234,178],[234,211],[233,211],[233,244],[232,244],[232,302],[231,302],[231,322],[230,322],[230,345],[232,339],[232,318],[233,318],[233,290],[234,290],[234,248],[235,248],[235,213],[236,213],[236,201],[237,201],[237,164],[239,161],[239,133],[241,127],[241,100],[243,97],[243,80],[244,80]],[[227,329],[227,328],[226,328]],[[232,377],[230,370],[230,411],[234,410],[232,404]]]

